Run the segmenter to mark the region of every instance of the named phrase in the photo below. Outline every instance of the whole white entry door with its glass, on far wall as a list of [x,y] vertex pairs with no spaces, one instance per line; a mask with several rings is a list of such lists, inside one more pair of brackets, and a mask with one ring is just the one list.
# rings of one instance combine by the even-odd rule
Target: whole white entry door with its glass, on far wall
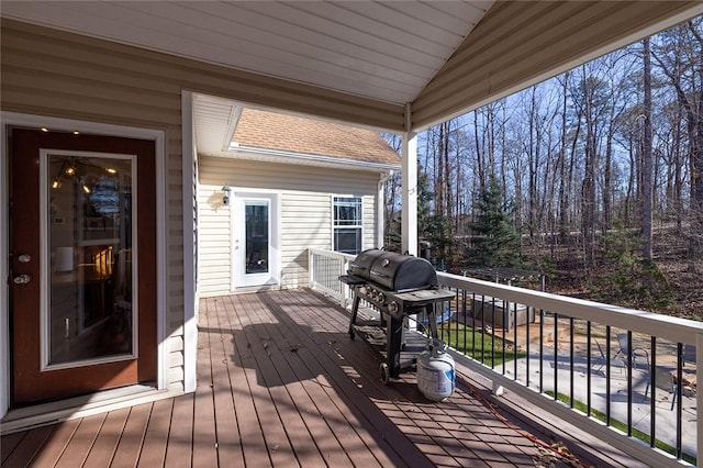
[[277,193],[234,192],[232,289],[280,281]]

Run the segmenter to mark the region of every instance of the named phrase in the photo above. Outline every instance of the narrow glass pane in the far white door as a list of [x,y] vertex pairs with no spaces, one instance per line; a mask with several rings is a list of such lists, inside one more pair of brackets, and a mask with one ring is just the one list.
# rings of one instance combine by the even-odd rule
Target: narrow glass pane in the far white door
[[245,201],[244,216],[246,238],[245,271],[247,275],[268,272],[268,201]]

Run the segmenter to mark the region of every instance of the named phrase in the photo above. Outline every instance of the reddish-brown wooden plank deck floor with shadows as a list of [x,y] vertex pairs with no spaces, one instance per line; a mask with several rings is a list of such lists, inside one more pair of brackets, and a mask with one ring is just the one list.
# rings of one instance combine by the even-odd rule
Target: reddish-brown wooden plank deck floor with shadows
[[347,327],[310,291],[204,299],[196,393],[4,435],[2,466],[549,466],[544,428],[492,409],[468,376],[439,403],[414,372],[383,386]]

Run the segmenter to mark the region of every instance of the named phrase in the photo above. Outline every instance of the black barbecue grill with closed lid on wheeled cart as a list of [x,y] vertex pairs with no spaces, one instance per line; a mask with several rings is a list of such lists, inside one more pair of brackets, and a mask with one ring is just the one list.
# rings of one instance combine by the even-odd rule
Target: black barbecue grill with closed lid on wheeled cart
[[[349,337],[354,339],[358,333],[380,346],[386,356],[380,368],[381,380],[387,383],[390,377],[395,378],[402,369],[414,365],[425,348],[424,341],[411,346],[404,343],[405,317],[425,312],[432,337],[436,338],[435,304],[454,294],[438,288],[437,272],[429,261],[411,255],[364,250],[349,263],[347,272],[339,279],[354,291]],[[379,322],[357,321],[361,300],[380,312]],[[384,343],[379,342],[379,334],[386,338]]]

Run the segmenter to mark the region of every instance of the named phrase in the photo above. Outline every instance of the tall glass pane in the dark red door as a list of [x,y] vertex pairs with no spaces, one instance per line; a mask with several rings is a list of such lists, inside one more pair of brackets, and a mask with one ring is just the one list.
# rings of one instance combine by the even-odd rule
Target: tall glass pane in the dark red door
[[133,160],[49,154],[45,167],[51,277],[45,363],[131,356]]

